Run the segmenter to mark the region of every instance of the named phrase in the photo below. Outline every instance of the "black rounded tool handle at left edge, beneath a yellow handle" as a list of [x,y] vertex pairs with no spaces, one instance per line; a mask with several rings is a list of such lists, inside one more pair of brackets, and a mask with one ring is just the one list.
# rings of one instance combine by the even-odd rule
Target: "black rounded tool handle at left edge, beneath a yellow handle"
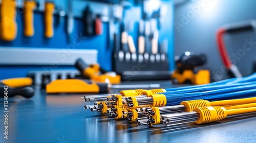
[[[5,94],[5,84],[0,83],[0,94],[1,94],[1,98],[4,98]],[[8,98],[14,97],[16,95],[20,95],[23,96],[25,98],[31,98],[34,96],[35,90],[30,87],[30,86],[25,86],[25,87],[17,87],[17,88],[12,88],[12,87],[8,87],[7,89],[7,96]]]

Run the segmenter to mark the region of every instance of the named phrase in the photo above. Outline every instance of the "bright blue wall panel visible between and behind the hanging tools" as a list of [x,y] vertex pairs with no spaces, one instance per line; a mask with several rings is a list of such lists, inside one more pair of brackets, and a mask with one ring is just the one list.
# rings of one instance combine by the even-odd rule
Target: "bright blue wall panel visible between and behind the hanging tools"
[[[58,2],[58,3],[56,3]],[[60,1],[56,1],[56,4],[59,4]],[[66,1],[64,1],[65,3]],[[81,4],[81,5],[80,5]],[[73,10],[74,14],[81,13],[81,10],[89,4],[88,1],[74,1]],[[110,3],[112,4],[112,3]],[[160,40],[163,38],[168,38],[168,57],[170,59],[170,69],[174,68],[173,63],[173,15],[174,15],[174,7],[173,1],[162,1],[162,4],[168,6],[168,12],[166,14],[165,23],[160,31]],[[96,12],[102,11],[101,9],[96,9],[97,7],[102,8],[104,5],[108,5],[105,3],[95,3],[92,6],[93,10]],[[63,3],[61,3],[63,6]],[[138,8],[138,6],[136,6]],[[67,7],[63,7],[66,11]],[[141,15],[140,13],[134,13],[135,17]],[[83,33],[83,23],[81,19],[75,18],[74,21],[74,30],[72,33],[72,41],[68,42],[67,36],[67,21],[66,18],[62,18],[62,22],[59,25],[57,23],[57,16],[54,16],[54,36],[52,38],[45,38],[44,37],[44,17],[42,13],[34,13],[34,28],[35,28],[35,35],[33,37],[25,37],[23,36],[23,14],[18,12],[17,13],[17,25],[18,25],[18,32],[17,37],[12,42],[5,42],[0,40],[0,46],[9,46],[10,48],[14,47],[26,47],[26,48],[33,48],[39,47],[42,49],[45,48],[54,48],[59,49],[60,51],[66,51],[67,49],[96,49],[98,50],[98,63],[102,68],[105,70],[112,70],[112,49],[113,47],[109,47],[109,25],[108,23],[103,23],[103,34],[100,36],[84,36],[82,37],[81,43],[77,43],[77,37],[82,35]],[[134,18],[134,17],[133,17]],[[137,20],[137,19],[136,19]],[[137,47],[137,36],[138,36],[138,23],[134,25],[134,31],[131,33],[134,36],[134,42]],[[75,40],[75,42],[73,41]],[[1,48],[1,47],[0,47]],[[65,53],[65,52],[63,52]],[[61,60],[65,55],[56,55]],[[15,57],[13,57],[15,58]],[[47,58],[47,57],[46,57]],[[0,65],[0,79],[5,78],[14,78],[14,77],[24,77],[27,75],[28,71],[30,70],[51,70],[49,65],[45,66],[9,66],[9,65]],[[54,69],[74,69],[74,66],[58,66]]]

